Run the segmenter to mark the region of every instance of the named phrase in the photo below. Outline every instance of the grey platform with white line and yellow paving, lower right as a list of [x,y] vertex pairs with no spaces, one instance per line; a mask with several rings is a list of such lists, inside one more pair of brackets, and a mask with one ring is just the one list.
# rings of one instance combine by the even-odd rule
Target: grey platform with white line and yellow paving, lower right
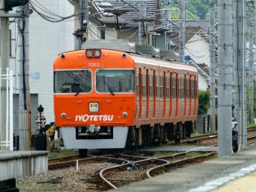
[[220,159],[178,168],[118,191],[256,191],[256,146]]

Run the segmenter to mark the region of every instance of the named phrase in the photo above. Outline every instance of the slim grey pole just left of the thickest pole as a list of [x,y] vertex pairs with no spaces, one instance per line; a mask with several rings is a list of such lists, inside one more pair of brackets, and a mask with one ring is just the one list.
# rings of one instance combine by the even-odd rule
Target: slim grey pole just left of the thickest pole
[[210,16],[210,90],[211,90],[211,130],[216,131],[215,124],[215,12],[214,12],[214,2],[210,3],[211,16]]

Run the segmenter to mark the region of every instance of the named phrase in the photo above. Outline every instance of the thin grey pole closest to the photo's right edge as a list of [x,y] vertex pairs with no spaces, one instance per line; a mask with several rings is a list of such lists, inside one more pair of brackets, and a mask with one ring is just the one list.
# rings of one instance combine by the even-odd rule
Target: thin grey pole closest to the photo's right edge
[[253,55],[253,32],[252,29],[249,30],[249,122],[254,123],[254,112],[253,112],[253,67],[254,65],[254,55]]

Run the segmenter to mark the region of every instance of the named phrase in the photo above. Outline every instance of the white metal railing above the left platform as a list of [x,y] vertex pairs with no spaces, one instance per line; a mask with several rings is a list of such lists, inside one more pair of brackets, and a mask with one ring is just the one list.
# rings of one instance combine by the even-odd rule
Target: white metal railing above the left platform
[[[0,109],[1,109],[1,80],[6,80],[6,141],[0,141],[0,147],[7,147],[9,150],[13,150],[13,71],[6,69],[7,74],[1,74],[0,68]],[[4,121],[1,120],[1,110],[0,110],[0,123]],[[4,127],[1,127],[4,129]],[[1,136],[1,138],[4,138]]]

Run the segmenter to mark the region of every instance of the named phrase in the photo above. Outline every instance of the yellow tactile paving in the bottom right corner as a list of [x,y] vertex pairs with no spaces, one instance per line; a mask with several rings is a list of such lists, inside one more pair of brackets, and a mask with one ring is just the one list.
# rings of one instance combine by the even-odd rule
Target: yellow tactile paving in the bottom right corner
[[256,192],[256,171],[211,192]]

